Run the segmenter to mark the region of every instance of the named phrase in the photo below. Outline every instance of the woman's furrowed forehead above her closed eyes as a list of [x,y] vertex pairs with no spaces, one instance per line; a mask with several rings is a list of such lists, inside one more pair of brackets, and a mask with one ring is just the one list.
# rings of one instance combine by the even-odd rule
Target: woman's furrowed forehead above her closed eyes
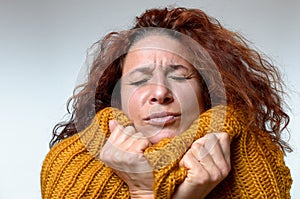
[[174,38],[165,35],[147,36],[130,48],[125,58],[123,73],[147,65],[181,64],[191,66],[186,61],[187,52],[186,47]]

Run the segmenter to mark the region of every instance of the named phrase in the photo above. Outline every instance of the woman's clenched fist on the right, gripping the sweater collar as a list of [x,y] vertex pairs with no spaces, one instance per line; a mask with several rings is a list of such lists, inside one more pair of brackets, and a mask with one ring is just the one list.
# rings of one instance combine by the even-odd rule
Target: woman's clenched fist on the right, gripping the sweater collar
[[211,133],[196,140],[179,162],[187,176],[173,198],[204,198],[230,171],[230,139]]

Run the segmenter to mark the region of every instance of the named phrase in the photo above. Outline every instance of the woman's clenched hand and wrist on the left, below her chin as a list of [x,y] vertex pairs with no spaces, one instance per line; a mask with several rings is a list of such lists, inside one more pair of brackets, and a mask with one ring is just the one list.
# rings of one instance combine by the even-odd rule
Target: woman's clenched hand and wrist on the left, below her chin
[[128,185],[131,198],[153,198],[154,176],[143,151],[150,142],[135,128],[110,121],[111,135],[100,152],[100,159]]

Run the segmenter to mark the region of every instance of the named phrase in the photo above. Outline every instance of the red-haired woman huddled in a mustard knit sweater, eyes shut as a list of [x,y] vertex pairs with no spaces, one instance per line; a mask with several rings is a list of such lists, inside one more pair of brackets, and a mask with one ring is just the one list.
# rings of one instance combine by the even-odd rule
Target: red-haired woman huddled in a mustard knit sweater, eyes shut
[[[99,47],[71,119],[54,129],[44,198],[289,197],[280,76],[239,35],[200,10],[153,9]],[[212,110],[224,105],[219,125]],[[107,116],[111,106],[130,121]]]

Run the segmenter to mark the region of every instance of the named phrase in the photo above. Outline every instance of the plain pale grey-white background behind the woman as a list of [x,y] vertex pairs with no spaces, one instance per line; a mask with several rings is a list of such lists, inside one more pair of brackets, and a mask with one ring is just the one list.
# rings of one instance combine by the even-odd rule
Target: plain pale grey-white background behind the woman
[[[86,50],[145,9],[195,7],[241,32],[284,75],[291,107],[286,157],[300,198],[300,1],[0,0],[0,198],[41,198],[39,173],[53,126],[84,66]],[[298,187],[298,189],[297,189]]]

